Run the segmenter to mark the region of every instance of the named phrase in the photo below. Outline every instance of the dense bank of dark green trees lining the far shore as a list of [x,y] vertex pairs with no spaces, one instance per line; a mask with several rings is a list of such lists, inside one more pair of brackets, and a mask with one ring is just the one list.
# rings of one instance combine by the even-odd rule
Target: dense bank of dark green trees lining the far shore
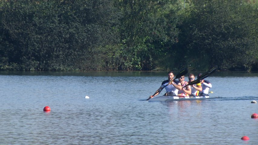
[[256,71],[247,0],[0,2],[0,70]]

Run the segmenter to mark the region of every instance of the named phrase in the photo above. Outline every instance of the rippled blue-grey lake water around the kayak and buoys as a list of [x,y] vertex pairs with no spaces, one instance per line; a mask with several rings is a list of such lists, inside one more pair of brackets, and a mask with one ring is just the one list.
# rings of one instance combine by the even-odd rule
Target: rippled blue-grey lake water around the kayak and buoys
[[[251,104],[258,101],[257,73],[209,76],[210,96],[220,99],[142,101],[166,75],[0,72],[0,144],[258,143],[258,119],[251,118],[258,114],[258,104]],[[51,112],[44,112],[45,106]]]

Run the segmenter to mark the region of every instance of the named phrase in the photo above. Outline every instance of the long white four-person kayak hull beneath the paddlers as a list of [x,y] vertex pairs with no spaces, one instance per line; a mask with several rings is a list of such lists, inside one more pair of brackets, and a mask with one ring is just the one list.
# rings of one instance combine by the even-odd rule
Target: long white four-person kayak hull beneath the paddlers
[[219,97],[210,97],[210,96],[157,96],[149,99],[151,101],[182,101],[182,100],[207,100],[207,99],[216,99]]

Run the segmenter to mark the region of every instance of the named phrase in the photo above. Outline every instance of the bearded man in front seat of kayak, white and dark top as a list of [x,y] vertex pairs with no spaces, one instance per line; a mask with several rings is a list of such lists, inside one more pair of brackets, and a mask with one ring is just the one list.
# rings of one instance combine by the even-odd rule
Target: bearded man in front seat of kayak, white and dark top
[[[158,95],[161,92],[161,91],[159,92],[159,90],[164,89],[164,86],[167,85],[168,83],[169,84],[165,87],[166,94],[172,93],[174,95],[178,95],[178,90],[181,90],[182,86],[181,86],[181,83],[178,80],[172,81],[173,78],[174,78],[174,72],[173,71],[168,72],[168,80],[165,80],[165,81],[162,82],[161,86],[155,92],[154,96]],[[150,98],[153,98],[154,96],[151,95]]]

